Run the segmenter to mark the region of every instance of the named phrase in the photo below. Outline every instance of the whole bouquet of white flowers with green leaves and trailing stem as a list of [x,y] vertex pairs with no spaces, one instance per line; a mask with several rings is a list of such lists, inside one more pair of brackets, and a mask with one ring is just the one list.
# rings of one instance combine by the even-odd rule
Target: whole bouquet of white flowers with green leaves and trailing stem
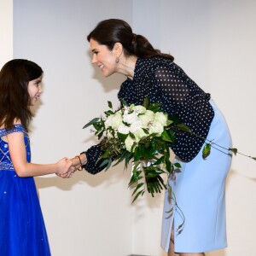
[[[170,160],[169,147],[175,143],[175,131],[191,133],[189,127],[183,125],[176,115],[171,118],[160,111],[159,103],[149,104],[148,97],[144,99],[143,105],[128,106],[121,100],[121,108],[118,110],[113,111],[111,102],[108,102],[108,108],[104,112],[105,117],[92,119],[84,125],[84,128],[93,125],[96,137],[101,140],[101,166],[106,166],[107,171],[110,166],[125,161],[127,169],[129,162],[132,162],[128,184],[133,189],[132,202],[143,195],[146,189],[154,196],[168,187],[168,195],[172,196],[172,187],[167,186],[162,175],[180,172],[180,164]],[[210,154],[213,144],[223,148],[206,141],[202,151],[203,159]],[[228,149],[234,154],[238,153],[236,148]]]

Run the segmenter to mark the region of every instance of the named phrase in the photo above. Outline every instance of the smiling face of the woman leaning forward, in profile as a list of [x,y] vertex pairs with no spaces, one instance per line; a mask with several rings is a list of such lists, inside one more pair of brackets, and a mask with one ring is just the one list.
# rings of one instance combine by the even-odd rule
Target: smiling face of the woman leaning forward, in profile
[[105,77],[116,72],[117,63],[113,50],[109,50],[106,45],[98,44],[93,39],[90,39],[90,49],[92,51],[91,62],[101,68]]

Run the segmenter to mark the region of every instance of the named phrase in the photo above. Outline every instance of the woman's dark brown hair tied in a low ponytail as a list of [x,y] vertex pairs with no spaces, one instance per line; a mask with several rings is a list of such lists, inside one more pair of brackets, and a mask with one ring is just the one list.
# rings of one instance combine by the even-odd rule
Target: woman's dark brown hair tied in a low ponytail
[[161,56],[174,61],[172,55],[161,53],[159,49],[154,49],[147,38],[133,33],[131,26],[125,20],[102,20],[87,36],[88,41],[91,38],[98,44],[106,45],[110,50],[115,43],[120,43],[124,47],[125,55],[136,55],[139,58]]

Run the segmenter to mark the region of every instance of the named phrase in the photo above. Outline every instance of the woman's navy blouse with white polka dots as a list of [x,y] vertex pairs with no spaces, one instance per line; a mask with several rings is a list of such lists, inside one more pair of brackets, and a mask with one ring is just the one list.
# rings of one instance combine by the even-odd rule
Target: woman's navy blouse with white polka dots
[[[214,111],[205,93],[189,79],[181,67],[161,57],[138,59],[133,79],[126,79],[119,90],[119,100],[142,105],[148,96],[149,102],[161,104],[161,110],[170,116],[177,114],[184,125],[200,137],[207,137]],[[204,140],[184,131],[175,134],[176,142],[170,144],[173,152],[183,161],[193,160],[199,153]],[[93,146],[86,152],[87,164],[84,168],[95,174],[104,167],[98,167],[96,160],[102,155],[100,146]]]

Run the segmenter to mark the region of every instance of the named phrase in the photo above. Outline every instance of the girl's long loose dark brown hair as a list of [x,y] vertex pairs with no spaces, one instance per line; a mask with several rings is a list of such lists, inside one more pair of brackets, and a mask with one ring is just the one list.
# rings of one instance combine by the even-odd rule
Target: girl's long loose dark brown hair
[[27,86],[43,70],[38,64],[23,59],[7,62],[0,71],[0,125],[11,128],[20,119],[25,130],[32,119],[31,98]]

